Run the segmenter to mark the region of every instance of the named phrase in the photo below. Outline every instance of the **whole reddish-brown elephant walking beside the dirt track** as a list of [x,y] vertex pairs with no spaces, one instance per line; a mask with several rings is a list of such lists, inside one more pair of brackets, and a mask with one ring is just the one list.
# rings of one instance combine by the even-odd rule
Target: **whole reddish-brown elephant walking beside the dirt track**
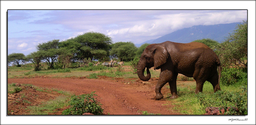
[[[172,96],[177,98],[176,79],[178,74],[193,77],[196,81],[195,93],[203,91],[205,81],[209,81],[213,85],[214,92],[220,90],[217,67],[220,60],[218,56],[208,46],[203,43],[174,43],[165,41],[160,44],[151,44],[147,46],[142,53],[137,65],[137,75],[143,81],[148,81],[151,77],[150,67],[161,69],[159,80],[157,81],[155,92],[156,100],[160,100],[164,96],[161,88],[169,82]],[[144,71],[147,75],[144,76]]]

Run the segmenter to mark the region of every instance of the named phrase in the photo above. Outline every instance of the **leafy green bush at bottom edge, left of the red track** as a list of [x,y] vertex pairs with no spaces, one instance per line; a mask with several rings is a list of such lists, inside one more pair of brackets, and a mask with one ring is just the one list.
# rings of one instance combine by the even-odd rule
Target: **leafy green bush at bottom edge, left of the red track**
[[83,113],[92,113],[95,115],[103,114],[103,109],[101,108],[101,103],[96,101],[93,96],[97,96],[94,92],[90,94],[83,95],[73,95],[71,96],[71,101],[69,102],[71,107],[67,110],[63,111],[62,114],[73,114],[73,115],[81,115]]

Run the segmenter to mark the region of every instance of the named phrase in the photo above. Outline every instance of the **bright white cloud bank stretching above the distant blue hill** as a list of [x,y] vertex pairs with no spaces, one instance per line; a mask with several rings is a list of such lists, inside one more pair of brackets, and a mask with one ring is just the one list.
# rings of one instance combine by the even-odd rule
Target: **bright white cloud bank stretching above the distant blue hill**
[[[242,22],[247,19],[247,11],[183,11],[174,14],[156,14],[154,18],[147,20],[135,20],[129,22],[126,27],[107,29],[107,34],[116,39],[129,38],[137,40],[149,40],[174,32],[175,30],[192,27],[193,25],[213,25]],[[126,23],[124,23],[126,24]],[[144,38],[142,38],[144,37]],[[117,40],[117,41],[120,41]]]

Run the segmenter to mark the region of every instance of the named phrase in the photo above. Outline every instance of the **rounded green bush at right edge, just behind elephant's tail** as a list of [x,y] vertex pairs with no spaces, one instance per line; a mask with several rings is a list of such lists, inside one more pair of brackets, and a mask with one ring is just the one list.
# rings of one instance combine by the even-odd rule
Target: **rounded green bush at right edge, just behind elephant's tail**
[[234,84],[247,85],[247,72],[244,72],[243,69],[224,68],[221,71],[220,82],[225,86]]

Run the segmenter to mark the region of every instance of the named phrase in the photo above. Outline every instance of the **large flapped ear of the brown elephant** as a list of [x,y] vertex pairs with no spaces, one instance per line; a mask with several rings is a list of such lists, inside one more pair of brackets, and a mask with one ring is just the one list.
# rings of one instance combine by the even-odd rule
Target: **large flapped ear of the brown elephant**
[[156,48],[152,51],[154,56],[154,69],[160,69],[159,66],[165,64],[168,59],[168,51],[165,46],[157,45]]

